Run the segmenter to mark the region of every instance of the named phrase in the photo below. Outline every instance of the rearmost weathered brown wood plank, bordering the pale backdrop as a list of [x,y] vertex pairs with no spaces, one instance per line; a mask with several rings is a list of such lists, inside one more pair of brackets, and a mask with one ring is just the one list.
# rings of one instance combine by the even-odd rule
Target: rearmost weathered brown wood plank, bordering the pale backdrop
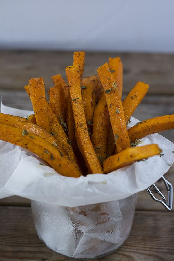
[[[124,66],[123,92],[128,93],[137,81],[150,84],[149,93],[173,93],[173,55],[117,52],[86,52],[84,76],[96,74],[109,57],[120,56]],[[46,89],[51,76],[73,63],[73,52],[1,51],[1,89],[22,89],[32,77],[44,77]]]

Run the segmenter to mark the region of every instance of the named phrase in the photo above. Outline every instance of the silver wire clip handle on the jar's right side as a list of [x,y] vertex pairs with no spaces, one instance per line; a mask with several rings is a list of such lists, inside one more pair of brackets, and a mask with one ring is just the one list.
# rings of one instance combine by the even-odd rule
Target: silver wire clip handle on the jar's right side
[[[160,202],[167,210],[171,210],[172,209],[172,201],[173,201],[173,187],[172,184],[170,182],[168,182],[168,180],[166,180],[163,176],[162,176],[162,180],[166,186],[167,189],[167,200],[164,197],[164,195],[162,194],[162,192],[157,188],[157,186],[155,184],[152,184],[150,187],[147,188],[147,191],[149,193],[149,195],[153,198],[153,200]],[[156,198],[150,188],[153,187],[157,193],[161,196],[161,199]]]

